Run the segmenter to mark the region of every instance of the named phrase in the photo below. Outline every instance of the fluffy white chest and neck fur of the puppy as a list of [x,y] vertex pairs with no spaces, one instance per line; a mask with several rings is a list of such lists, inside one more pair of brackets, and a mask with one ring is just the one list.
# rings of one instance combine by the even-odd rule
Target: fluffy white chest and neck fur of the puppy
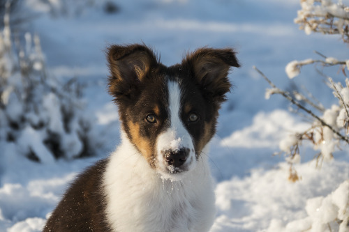
[[163,180],[128,139],[112,153],[104,176],[107,220],[118,232],[209,231],[214,191],[206,157],[182,180]]

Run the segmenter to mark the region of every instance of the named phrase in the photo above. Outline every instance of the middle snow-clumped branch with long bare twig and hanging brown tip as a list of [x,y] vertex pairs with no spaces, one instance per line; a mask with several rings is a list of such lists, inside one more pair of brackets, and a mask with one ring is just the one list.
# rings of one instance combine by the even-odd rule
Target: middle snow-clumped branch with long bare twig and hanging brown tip
[[[258,68],[253,68],[272,86],[271,89],[266,90],[267,99],[272,94],[280,94],[289,100],[292,105],[302,109],[314,119],[309,129],[304,130],[304,132],[290,134],[280,141],[280,149],[288,155],[286,161],[290,164],[289,180],[292,182],[299,180],[293,164],[300,161],[299,147],[302,146],[302,141],[310,141],[314,150],[320,150],[320,153],[315,156],[317,166],[320,158],[322,160],[333,158],[333,153],[336,148],[339,148],[341,141],[349,144],[349,79],[346,79],[346,87],[329,79],[332,89],[334,89],[334,96],[339,99],[339,105],[332,105],[330,109],[321,110],[322,116],[318,116],[299,102],[302,98],[298,99],[297,95],[292,96],[288,91],[281,90]],[[342,130],[346,130],[347,135],[342,134]]]

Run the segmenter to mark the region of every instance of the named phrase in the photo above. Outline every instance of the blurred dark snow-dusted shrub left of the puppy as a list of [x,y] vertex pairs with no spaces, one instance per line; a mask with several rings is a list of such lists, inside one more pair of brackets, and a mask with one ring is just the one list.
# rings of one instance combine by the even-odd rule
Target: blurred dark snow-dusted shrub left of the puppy
[[17,153],[38,162],[92,155],[97,142],[81,86],[47,74],[38,36],[13,39],[9,9],[10,1],[0,34],[0,144],[14,143]]

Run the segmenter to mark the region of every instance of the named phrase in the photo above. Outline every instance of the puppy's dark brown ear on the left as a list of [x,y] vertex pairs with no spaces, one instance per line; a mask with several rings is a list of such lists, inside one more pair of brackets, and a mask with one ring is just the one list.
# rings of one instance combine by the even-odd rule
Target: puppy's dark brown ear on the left
[[156,55],[145,45],[111,45],[107,48],[110,68],[109,93],[115,100],[138,93],[142,80],[156,65]]

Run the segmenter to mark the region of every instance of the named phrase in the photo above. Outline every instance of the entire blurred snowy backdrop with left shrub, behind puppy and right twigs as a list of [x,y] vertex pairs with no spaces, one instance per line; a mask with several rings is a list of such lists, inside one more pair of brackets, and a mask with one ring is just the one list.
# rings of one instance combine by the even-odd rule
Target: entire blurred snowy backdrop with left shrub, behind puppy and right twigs
[[299,180],[290,182],[290,160],[273,154],[311,123],[281,96],[266,100],[269,86],[253,70],[286,91],[306,86],[325,109],[339,105],[316,69],[345,86],[348,64],[307,65],[295,79],[285,73],[290,61],[321,58],[314,51],[349,59],[341,36],[299,30],[299,0],[0,3],[0,231],[40,231],[74,176],[119,144],[104,50],[133,42],[153,47],[165,65],[202,46],[238,52],[242,68],[230,75],[235,87],[211,143],[211,231],[349,231],[348,146],[317,167],[318,151],[302,143],[292,163]]

